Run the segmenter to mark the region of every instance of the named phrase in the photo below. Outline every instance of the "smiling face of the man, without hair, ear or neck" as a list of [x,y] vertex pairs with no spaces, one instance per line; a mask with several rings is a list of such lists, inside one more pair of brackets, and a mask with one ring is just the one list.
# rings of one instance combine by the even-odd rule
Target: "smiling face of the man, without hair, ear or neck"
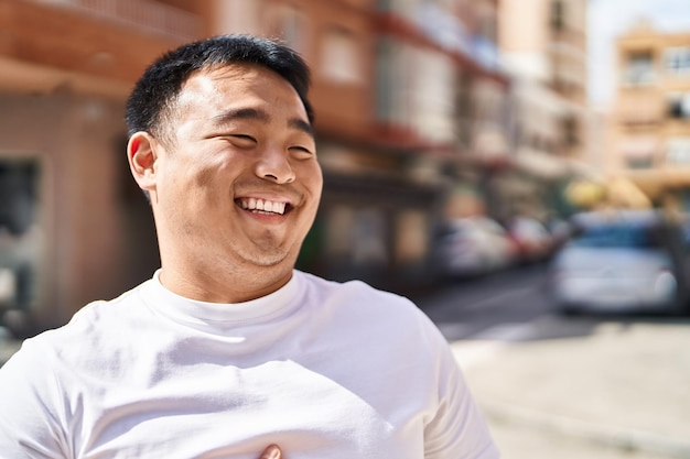
[[[153,142],[161,256],[191,270],[292,269],[323,178],[297,91],[259,66],[193,75]],[[181,267],[181,266],[177,266]]]

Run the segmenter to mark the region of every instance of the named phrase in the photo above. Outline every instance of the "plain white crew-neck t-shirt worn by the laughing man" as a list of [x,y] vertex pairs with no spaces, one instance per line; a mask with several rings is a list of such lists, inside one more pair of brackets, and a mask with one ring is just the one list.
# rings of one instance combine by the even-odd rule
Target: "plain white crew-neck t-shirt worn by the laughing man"
[[24,341],[0,392],[2,458],[499,457],[427,316],[299,271],[231,305],[154,275]]

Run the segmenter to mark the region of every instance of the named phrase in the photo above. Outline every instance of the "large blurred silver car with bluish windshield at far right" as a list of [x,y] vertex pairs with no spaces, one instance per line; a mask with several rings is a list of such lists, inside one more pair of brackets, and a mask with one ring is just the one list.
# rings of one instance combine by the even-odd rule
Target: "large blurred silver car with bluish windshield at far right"
[[688,244],[681,226],[656,210],[586,212],[548,269],[563,313],[687,312]]

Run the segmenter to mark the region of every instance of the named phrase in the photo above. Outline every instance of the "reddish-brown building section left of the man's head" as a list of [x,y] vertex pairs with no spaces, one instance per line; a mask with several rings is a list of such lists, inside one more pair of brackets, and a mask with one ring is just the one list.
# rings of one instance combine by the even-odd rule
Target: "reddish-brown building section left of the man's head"
[[123,108],[150,61],[204,34],[172,3],[0,0],[0,309],[63,324],[159,265]]

